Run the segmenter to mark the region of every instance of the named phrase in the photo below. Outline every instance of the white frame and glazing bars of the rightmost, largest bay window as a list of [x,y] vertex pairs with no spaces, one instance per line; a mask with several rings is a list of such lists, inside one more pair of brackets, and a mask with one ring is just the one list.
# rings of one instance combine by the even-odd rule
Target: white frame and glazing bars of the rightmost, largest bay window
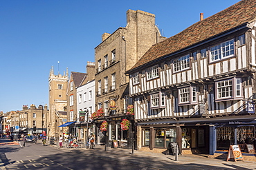
[[[221,86],[218,87],[218,84],[225,81],[231,81],[232,82],[232,96],[224,96],[219,97],[219,89],[220,88],[227,88],[227,86]],[[239,81],[239,85],[238,85]],[[239,90],[237,89],[239,87]],[[225,89],[226,90],[226,89]],[[237,94],[239,92],[239,95]],[[222,93],[226,93],[226,91],[223,91]],[[232,78],[226,78],[219,81],[215,81],[215,102],[222,102],[226,100],[241,100],[243,98],[243,80],[240,77],[232,77]]]

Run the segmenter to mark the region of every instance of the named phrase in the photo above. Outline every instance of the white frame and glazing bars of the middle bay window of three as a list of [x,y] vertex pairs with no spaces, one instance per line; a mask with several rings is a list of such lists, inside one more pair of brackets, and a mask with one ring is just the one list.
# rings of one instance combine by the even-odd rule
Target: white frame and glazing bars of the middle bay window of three
[[[181,90],[187,89],[186,92],[181,92]],[[182,97],[182,94],[188,94],[186,97]],[[182,98],[188,98],[188,100],[181,101]],[[195,98],[195,100],[194,100]],[[198,104],[198,87],[196,86],[188,86],[178,89],[178,101],[179,106],[181,105],[197,105]]]

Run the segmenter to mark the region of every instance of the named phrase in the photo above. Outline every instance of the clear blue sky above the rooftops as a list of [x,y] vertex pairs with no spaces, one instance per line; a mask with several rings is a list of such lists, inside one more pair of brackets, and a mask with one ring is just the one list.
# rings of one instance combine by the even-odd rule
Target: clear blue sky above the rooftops
[[0,111],[48,104],[48,76],[68,67],[86,72],[104,32],[126,26],[127,10],[156,15],[166,37],[173,36],[239,0],[53,1],[0,0]]

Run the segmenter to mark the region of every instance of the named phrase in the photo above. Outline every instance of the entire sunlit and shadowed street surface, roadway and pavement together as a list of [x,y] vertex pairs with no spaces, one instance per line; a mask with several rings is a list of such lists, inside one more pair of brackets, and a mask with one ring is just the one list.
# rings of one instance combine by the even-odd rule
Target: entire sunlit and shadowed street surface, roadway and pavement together
[[[21,145],[20,145],[21,144]],[[135,151],[131,155],[128,149],[110,149],[96,146],[96,149],[59,149],[56,145],[43,146],[26,142],[10,142],[0,139],[0,167],[6,169],[256,169],[255,162],[234,162],[209,159],[200,156],[165,156],[162,153]]]

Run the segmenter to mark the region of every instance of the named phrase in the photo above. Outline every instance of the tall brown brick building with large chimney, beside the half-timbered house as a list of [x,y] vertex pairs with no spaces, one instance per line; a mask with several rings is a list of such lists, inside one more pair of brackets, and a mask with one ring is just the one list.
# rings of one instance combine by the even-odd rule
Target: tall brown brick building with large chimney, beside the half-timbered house
[[130,147],[132,128],[120,129],[126,115],[127,105],[132,104],[129,98],[129,70],[154,43],[165,39],[155,25],[155,15],[141,10],[127,11],[127,25],[118,28],[112,34],[104,33],[102,42],[95,47],[95,110],[102,109],[104,116],[95,119],[98,127],[95,134],[97,141],[102,140],[99,131],[103,120],[109,123],[107,141],[118,140],[119,147]]

